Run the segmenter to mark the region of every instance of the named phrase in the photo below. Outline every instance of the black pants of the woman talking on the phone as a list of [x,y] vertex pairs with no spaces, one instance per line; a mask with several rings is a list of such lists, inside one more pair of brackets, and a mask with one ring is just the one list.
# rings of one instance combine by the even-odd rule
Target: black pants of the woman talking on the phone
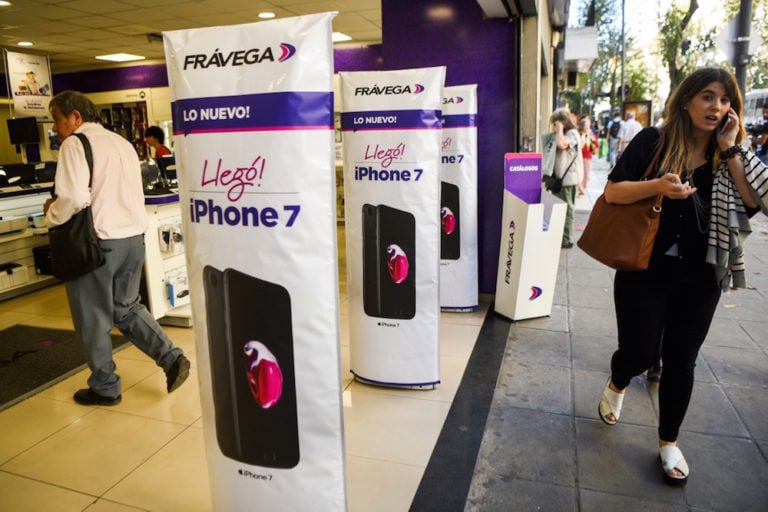
[[611,358],[618,389],[651,367],[662,333],[664,371],[659,383],[659,438],[676,441],[693,392],[696,357],[720,300],[711,267],[654,258],[648,270],[616,272],[614,303],[619,348]]

